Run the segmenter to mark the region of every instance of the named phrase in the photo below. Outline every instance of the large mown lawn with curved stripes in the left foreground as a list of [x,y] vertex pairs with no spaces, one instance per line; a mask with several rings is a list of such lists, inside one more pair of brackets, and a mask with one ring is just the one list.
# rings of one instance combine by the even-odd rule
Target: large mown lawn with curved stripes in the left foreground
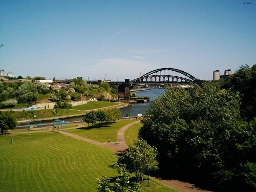
[[61,134],[0,136],[0,145],[0,191],[96,191],[96,178],[116,175],[112,150]]

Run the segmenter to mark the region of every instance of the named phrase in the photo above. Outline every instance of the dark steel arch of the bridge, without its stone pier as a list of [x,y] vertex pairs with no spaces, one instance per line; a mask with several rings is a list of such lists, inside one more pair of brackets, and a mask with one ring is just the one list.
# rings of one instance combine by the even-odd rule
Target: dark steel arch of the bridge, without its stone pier
[[[168,70],[168,75],[165,74],[165,71]],[[161,72],[164,71],[164,74],[161,74]],[[181,74],[181,76],[177,75],[170,75],[169,72],[177,72]],[[160,74],[157,74],[160,72]],[[184,75],[184,77],[182,76]],[[130,81],[130,84],[132,84],[132,87],[135,86],[135,84],[151,84],[151,83],[189,83],[189,82],[194,82],[197,80],[196,77],[193,75],[190,75],[189,73],[179,70],[179,69],[174,69],[174,68],[161,68],[161,69],[156,69],[151,72],[148,72],[141,77],[137,79],[133,79]]]

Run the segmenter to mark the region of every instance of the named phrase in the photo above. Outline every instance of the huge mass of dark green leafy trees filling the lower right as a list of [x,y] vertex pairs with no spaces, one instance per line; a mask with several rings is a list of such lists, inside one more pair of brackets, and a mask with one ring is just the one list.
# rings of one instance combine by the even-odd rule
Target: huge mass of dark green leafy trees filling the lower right
[[238,95],[216,83],[167,89],[147,115],[139,136],[157,147],[167,175],[222,190],[253,190],[256,123],[241,119]]

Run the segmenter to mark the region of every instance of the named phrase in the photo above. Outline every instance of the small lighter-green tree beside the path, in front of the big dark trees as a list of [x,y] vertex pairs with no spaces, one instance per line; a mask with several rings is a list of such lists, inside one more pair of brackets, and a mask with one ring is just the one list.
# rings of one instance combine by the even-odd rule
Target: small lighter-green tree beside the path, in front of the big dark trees
[[134,142],[134,146],[129,149],[121,157],[120,162],[126,161],[136,175],[137,183],[143,181],[143,173],[148,174],[148,186],[150,186],[150,170],[158,169],[157,148],[151,147],[141,138]]

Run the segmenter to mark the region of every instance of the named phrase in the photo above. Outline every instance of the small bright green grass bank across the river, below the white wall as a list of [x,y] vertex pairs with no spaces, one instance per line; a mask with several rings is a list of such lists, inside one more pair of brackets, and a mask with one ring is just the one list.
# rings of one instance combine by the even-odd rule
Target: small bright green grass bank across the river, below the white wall
[[86,103],[86,104],[73,106],[72,109],[86,111],[86,110],[105,108],[106,106],[114,106],[117,104],[119,104],[119,103],[113,103],[113,102],[108,102],[108,101],[88,101],[88,103]]

